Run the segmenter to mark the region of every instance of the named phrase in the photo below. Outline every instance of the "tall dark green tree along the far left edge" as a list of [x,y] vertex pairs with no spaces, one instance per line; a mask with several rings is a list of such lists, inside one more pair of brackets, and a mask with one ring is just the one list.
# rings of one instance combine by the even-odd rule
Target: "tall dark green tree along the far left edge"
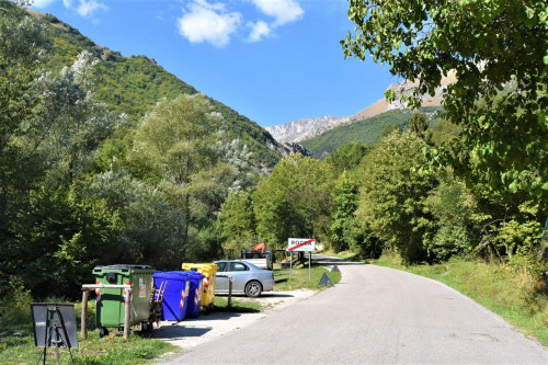
[[19,138],[41,129],[32,119],[38,113],[36,84],[48,43],[44,28],[26,15],[23,4],[0,1],[0,204],[18,201],[12,194],[28,189],[42,170]]

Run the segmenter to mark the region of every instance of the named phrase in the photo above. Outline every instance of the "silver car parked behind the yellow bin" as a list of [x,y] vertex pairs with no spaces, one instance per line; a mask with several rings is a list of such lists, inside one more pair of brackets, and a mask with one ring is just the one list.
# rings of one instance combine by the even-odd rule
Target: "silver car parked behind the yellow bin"
[[[274,273],[240,260],[214,261],[219,266],[217,274],[232,276],[232,293],[258,297],[274,288]],[[228,294],[228,278],[217,277],[215,294]]]

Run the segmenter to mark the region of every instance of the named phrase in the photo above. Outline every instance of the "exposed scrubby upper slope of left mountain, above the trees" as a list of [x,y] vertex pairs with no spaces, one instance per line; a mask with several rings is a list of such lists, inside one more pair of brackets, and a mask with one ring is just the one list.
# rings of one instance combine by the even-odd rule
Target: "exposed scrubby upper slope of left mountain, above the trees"
[[[27,10],[43,23],[53,44],[46,69],[59,71],[70,66],[82,50],[88,50],[98,64],[96,98],[113,111],[127,114],[138,121],[162,98],[174,99],[180,94],[198,91],[165,71],[153,58],[146,56],[124,57],[118,52],[98,45],[77,28],[54,15]],[[276,141],[270,133],[231,107],[209,99],[214,110],[222,114],[230,140],[239,139],[251,152],[250,163],[255,170],[269,172],[281,157],[293,151],[290,146]]]

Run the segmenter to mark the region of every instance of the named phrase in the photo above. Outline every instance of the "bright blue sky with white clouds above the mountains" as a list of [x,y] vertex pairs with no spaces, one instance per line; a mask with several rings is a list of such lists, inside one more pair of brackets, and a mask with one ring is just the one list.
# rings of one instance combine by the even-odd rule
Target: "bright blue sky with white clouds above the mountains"
[[96,44],[155,58],[261,126],[350,116],[384,98],[388,66],[344,59],[346,0],[34,0]]

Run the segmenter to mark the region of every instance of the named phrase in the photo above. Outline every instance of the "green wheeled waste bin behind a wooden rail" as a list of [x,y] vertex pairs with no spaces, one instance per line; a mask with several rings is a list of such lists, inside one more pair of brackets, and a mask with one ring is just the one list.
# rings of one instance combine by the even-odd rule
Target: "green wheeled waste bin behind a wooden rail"
[[[151,329],[149,323],[150,300],[152,297],[152,274],[148,265],[110,265],[95,266],[93,274],[96,284],[132,285],[132,310],[129,326],[141,324],[141,329]],[[106,328],[124,326],[126,298],[125,289],[102,288],[95,290],[95,319],[99,335],[107,334]]]

